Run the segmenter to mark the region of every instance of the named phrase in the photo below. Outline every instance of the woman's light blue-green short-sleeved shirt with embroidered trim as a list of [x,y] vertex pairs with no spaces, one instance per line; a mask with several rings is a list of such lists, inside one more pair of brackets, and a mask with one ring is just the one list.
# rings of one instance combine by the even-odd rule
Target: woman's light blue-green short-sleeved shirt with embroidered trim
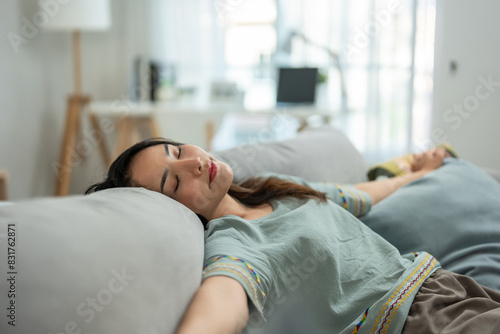
[[242,284],[251,301],[247,332],[290,303],[325,332],[399,333],[418,288],[439,263],[427,253],[401,256],[361,223],[352,213],[370,209],[366,193],[290,180],[332,201],[289,198],[274,201],[262,218],[210,221],[203,277],[224,275]]

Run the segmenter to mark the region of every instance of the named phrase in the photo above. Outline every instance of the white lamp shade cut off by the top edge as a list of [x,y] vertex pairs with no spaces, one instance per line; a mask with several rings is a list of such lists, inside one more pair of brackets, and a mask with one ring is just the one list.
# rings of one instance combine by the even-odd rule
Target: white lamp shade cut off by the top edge
[[109,0],[39,0],[47,30],[105,30],[111,25]]

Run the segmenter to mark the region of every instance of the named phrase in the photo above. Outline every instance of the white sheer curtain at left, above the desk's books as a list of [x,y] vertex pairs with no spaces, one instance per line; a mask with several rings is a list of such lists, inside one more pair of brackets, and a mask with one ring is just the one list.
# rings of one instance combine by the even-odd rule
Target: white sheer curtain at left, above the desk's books
[[215,2],[149,2],[151,54],[175,67],[177,86],[203,90],[208,80],[224,74],[224,31]]

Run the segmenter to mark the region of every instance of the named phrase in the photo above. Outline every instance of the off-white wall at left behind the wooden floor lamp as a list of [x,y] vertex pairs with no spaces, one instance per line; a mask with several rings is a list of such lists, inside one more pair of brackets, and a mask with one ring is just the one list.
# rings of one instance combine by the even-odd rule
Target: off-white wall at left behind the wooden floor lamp
[[[126,96],[132,59],[149,49],[148,2],[112,0],[111,6],[110,30],[82,33],[83,90],[94,99]],[[66,98],[73,90],[70,34],[26,34],[23,20],[33,23],[38,11],[37,1],[0,1],[0,168],[9,170],[12,200],[53,194],[51,165],[59,159]],[[12,34],[29,35],[18,52]],[[74,169],[71,192],[81,193],[104,172],[95,148]]]

